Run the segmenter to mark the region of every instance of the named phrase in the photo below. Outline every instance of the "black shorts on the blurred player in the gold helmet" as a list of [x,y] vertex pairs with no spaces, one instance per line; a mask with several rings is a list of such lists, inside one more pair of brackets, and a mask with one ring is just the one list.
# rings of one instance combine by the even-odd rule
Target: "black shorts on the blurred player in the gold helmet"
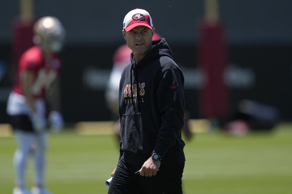
[[28,115],[14,115],[10,116],[10,124],[13,131],[21,130],[26,132],[34,132],[33,125]]

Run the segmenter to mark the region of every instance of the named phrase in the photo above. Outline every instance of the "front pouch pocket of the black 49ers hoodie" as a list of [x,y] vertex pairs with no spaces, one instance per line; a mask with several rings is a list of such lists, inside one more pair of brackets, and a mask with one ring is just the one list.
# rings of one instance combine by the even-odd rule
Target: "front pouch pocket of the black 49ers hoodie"
[[149,154],[156,145],[158,130],[149,113],[124,114],[121,121],[122,150],[131,155]]

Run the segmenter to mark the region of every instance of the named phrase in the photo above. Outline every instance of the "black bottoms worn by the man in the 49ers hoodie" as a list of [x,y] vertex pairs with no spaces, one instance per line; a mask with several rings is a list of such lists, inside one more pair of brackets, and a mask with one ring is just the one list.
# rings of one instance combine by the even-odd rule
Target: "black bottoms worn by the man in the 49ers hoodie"
[[120,159],[109,185],[108,194],[182,194],[182,172],[185,162],[161,166],[155,176],[134,174],[142,166],[133,166]]

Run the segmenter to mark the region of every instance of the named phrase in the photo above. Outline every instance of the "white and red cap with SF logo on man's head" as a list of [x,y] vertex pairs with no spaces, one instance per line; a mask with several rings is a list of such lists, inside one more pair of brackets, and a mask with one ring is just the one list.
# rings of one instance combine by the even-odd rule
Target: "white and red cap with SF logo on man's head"
[[147,11],[144,9],[136,8],[129,13],[124,18],[123,29],[126,32],[129,32],[131,29],[135,28],[138,25],[147,26],[152,30],[153,23],[152,19]]

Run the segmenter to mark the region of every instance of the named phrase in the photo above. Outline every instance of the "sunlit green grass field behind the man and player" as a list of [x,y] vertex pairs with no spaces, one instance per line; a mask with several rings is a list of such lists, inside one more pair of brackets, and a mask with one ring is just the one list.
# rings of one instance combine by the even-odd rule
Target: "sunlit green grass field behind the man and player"
[[[13,137],[0,137],[0,193],[14,186]],[[185,147],[185,194],[291,194],[292,125],[272,133],[231,137],[199,133]],[[105,194],[104,181],[116,166],[118,144],[113,135],[50,134],[47,188],[55,194]],[[28,164],[33,182],[33,161]]]

